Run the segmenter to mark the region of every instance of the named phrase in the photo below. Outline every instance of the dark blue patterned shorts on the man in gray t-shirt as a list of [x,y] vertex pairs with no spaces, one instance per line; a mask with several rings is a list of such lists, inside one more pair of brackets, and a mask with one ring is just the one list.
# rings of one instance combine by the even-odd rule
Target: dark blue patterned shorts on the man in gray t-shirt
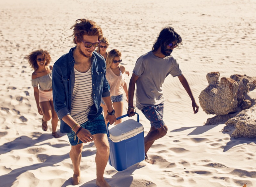
[[142,113],[150,121],[151,127],[159,129],[164,126],[164,104],[144,107]]

